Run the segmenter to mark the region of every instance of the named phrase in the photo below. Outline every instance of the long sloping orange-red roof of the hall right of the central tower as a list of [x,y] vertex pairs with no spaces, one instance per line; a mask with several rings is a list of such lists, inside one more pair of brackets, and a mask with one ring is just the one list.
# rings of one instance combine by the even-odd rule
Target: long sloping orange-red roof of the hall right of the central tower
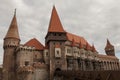
[[74,34],[71,34],[71,33],[66,33],[67,35],[67,39],[69,41],[73,41],[75,43],[80,43],[81,42],[81,45],[86,45],[87,41],[83,38],[83,37],[80,37],[80,36],[77,36],[77,35],[74,35]]

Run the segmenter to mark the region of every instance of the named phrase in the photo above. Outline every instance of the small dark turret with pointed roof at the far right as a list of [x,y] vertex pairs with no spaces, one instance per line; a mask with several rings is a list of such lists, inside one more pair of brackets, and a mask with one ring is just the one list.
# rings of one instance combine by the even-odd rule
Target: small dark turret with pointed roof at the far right
[[109,56],[115,56],[115,49],[114,46],[110,43],[110,41],[107,39],[107,44],[105,47],[105,52]]

